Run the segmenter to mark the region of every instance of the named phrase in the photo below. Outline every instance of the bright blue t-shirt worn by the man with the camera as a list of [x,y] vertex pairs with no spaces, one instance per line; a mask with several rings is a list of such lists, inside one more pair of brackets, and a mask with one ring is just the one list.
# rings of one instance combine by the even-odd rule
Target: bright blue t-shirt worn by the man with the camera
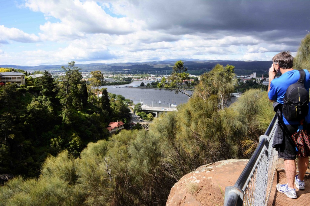
[[[306,77],[304,79],[304,85],[307,91],[309,92],[310,88],[310,74],[309,71],[304,69],[306,73]],[[268,92],[268,97],[270,100],[277,101],[283,104],[283,97],[285,95],[286,89],[291,85],[298,81],[299,79],[299,71],[292,70],[287,71],[282,74],[279,78],[272,79],[270,83],[270,90]],[[307,123],[310,123],[310,107],[308,115],[305,118]],[[299,121],[287,121],[286,118],[283,117],[283,121],[285,124],[299,124]]]

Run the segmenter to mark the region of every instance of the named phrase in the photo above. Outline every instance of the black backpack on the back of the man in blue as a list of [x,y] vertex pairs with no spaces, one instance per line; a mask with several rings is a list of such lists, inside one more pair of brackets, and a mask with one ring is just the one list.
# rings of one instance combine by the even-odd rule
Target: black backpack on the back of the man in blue
[[291,84],[285,92],[282,105],[282,113],[286,120],[300,121],[309,111],[309,92],[304,86],[305,71],[299,71],[299,79]]

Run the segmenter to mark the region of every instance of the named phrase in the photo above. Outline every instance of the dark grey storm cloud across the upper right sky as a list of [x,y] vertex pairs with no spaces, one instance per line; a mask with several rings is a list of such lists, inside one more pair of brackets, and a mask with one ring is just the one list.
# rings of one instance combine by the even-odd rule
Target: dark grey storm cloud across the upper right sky
[[[310,1],[146,1],[150,30],[173,35],[255,36],[263,41],[302,39],[310,31]],[[140,16],[141,17],[141,16]],[[291,43],[293,44],[293,43]]]

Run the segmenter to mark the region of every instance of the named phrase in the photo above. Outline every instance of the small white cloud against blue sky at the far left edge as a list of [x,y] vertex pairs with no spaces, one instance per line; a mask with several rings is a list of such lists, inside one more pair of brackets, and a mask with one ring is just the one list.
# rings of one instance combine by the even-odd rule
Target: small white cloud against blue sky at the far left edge
[[[35,34],[27,34],[17,28],[7,28],[4,25],[0,25],[0,33],[2,38],[6,40],[18,41],[18,42],[37,42],[39,37]],[[0,39],[1,43],[1,39]]]

